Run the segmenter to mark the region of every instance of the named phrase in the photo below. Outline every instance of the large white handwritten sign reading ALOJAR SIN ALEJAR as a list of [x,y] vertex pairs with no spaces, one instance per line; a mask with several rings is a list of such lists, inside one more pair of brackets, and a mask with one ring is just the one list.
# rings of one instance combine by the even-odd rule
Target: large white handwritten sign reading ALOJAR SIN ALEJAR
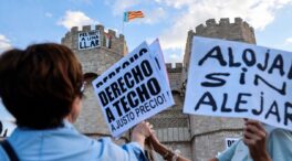
[[184,112],[292,130],[292,53],[194,36]]

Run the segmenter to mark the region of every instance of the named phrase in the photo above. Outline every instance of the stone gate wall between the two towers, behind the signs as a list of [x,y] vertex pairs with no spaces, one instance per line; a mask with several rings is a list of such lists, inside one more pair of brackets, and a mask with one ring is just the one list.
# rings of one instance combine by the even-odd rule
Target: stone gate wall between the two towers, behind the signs
[[[180,64],[178,66],[180,66]],[[167,71],[171,85],[171,75],[179,74],[181,68],[177,71],[170,66],[167,66]],[[177,82],[176,78],[179,77],[174,76],[173,78],[175,82]],[[191,136],[189,116],[182,114],[184,97],[181,97],[179,92],[174,89],[176,86],[176,84],[175,86],[171,86],[175,105],[152,117],[148,121],[154,125],[157,138],[165,146],[180,152],[184,157],[191,159],[192,150],[190,141]],[[161,158],[157,160],[161,160]]]

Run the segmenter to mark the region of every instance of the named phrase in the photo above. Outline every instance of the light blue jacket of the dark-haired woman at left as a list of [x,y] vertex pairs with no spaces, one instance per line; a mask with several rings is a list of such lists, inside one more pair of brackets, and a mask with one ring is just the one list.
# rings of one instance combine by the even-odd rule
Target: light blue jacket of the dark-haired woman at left
[[[147,160],[136,142],[118,147],[109,138],[94,140],[69,121],[50,130],[17,128],[8,138],[21,161],[136,161]],[[0,161],[9,161],[0,148]]]

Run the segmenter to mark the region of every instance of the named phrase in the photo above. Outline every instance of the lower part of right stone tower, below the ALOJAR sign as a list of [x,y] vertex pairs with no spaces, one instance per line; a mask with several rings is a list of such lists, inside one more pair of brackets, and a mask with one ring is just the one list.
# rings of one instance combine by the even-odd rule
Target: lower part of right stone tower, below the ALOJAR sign
[[240,138],[243,131],[243,120],[234,118],[190,116],[190,125],[194,161],[215,157],[225,150],[225,138]]

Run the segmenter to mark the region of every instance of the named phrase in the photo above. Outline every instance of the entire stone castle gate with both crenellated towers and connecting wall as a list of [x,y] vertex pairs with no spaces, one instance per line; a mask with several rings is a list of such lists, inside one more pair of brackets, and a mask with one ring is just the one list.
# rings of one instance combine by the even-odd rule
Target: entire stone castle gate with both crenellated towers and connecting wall
[[[100,31],[100,46],[80,50],[79,36],[84,32]],[[179,151],[184,157],[194,161],[205,161],[226,149],[226,138],[239,138],[242,135],[242,120],[219,117],[189,116],[182,114],[185,87],[194,35],[218,37],[231,41],[255,43],[254,32],[242,19],[236,18],[233,23],[229,19],[215,19],[200,24],[196,31],[190,30],[186,41],[182,63],[175,66],[166,64],[175,105],[148,121],[154,125],[158,139],[169,148]],[[72,28],[62,39],[62,44],[72,49],[83,65],[84,78],[87,82],[83,109],[76,122],[77,129],[90,137],[109,136],[109,130],[97,105],[91,87],[91,82],[122,58],[127,53],[124,35],[112,30],[104,31],[103,25],[83,26],[82,30]],[[128,141],[128,135],[119,140]]]

